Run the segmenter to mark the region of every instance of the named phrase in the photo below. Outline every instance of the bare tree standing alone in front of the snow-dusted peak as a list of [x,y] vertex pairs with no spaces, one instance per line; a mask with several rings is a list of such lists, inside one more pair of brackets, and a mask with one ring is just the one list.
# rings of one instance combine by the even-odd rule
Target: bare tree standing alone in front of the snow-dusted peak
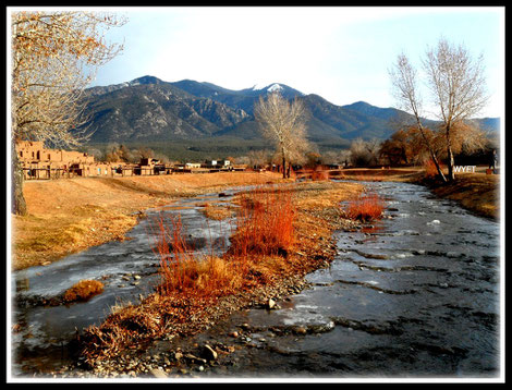
[[256,103],[254,115],[264,136],[276,145],[282,161],[283,178],[290,178],[290,161],[298,161],[308,150],[304,105],[295,99],[290,102],[279,93],[263,97]]

